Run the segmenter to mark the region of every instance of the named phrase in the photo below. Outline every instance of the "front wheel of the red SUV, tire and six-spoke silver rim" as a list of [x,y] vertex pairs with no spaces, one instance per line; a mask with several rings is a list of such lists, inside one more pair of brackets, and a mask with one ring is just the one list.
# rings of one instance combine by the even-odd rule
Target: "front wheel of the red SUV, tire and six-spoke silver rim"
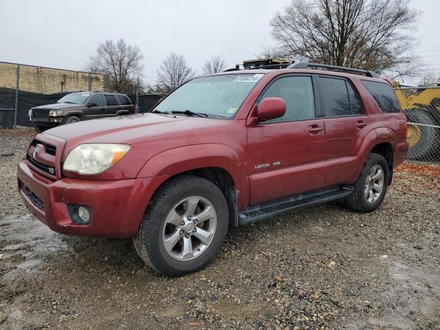
[[228,219],[228,204],[217,186],[200,177],[176,177],[151,199],[133,245],[141,259],[160,274],[184,276],[214,259],[228,231]]

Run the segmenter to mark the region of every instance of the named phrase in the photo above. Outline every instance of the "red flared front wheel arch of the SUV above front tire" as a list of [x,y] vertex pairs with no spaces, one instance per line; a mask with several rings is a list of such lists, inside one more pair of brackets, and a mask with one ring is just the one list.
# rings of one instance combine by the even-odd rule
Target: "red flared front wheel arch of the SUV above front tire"
[[225,144],[192,144],[158,153],[142,167],[137,177],[171,177],[197,168],[217,167],[232,177],[239,195],[238,208],[249,201],[249,183],[246,163]]

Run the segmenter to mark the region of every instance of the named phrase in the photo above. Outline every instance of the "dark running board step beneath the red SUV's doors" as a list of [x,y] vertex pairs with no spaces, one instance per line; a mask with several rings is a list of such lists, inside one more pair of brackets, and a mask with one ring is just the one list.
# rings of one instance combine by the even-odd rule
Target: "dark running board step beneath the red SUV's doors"
[[281,201],[264,203],[256,206],[251,206],[243,212],[239,212],[239,225],[245,225],[254,221],[259,221],[268,217],[273,217],[276,214],[283,213],[298,208],[305,208],[334,199],[347,197],[353,193],[353,187],[342,186],[332,188],[329,190],[320,190],[316,192],[309,192],[307,194],[295,195]]

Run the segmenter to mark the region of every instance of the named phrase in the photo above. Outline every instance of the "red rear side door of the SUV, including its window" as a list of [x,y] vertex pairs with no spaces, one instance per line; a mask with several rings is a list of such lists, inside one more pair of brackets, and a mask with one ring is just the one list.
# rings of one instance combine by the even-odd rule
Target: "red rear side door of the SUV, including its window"
[[356,158],[370,131],[371,120],[364,114],[360,98],[348,79],[320,76],[321,107],[325,114],[325,186],[351,183]]

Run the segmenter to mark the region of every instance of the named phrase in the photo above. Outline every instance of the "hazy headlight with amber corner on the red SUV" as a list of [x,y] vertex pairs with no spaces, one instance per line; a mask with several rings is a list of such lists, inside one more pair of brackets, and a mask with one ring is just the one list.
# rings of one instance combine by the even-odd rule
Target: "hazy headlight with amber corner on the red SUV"
[[98,174],[119,162],[129,150],[126,144],[80,144],[67,155],[63,169]]

